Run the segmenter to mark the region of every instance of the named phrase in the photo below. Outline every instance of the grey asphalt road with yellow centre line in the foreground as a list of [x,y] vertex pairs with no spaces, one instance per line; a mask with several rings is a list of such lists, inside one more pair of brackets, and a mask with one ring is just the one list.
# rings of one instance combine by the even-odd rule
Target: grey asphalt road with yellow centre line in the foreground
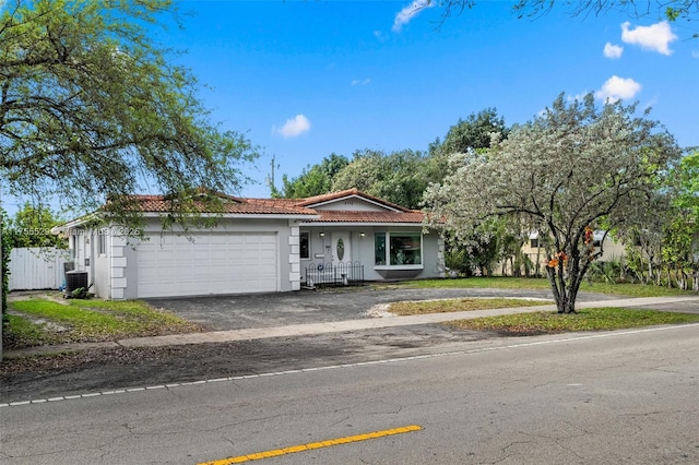
[[[0,463],[193,464],[417,425],[274,464],[699,463],[699,325],[0,408]],[[330,443],[329,443],[330,444]]]

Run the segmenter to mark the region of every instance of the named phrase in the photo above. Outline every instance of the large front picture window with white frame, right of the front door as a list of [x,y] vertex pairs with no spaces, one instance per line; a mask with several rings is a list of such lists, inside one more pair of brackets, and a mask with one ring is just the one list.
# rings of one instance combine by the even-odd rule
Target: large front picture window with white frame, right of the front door
[[407,266],[423,264],[420,233],[375,233],[374,264],[376,266]]

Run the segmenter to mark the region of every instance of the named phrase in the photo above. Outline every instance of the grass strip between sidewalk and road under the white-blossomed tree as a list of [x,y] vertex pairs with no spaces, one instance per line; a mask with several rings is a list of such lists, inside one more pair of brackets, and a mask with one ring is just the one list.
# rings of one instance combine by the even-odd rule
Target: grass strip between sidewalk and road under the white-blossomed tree
[[445,324],[460,330],[491,331],[508,336],[529,336],[695,322],[699,322],[699,314],[604,307],[583,309],[573,314],[532,312],[458,320]]

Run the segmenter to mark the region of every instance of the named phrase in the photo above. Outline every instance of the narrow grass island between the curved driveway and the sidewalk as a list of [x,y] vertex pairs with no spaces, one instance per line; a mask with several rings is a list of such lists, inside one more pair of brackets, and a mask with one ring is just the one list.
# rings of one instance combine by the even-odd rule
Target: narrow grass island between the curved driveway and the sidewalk
[[454,311],[503,309],[510,307],[534,307],[553,303],[544,300],[529,299],[445,299],[427,300],[420,302],[395,302],[391,303],[389,311],[398,315],[425,314],[425,313],[447,313]]

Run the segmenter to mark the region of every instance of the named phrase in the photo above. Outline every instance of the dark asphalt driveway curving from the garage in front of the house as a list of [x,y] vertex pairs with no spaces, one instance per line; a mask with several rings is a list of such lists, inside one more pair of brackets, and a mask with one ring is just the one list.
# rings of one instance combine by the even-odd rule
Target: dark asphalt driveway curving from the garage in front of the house
[[[523,297],[552,299],[550,290],[536,289],[376,289],[324,288],[294,293],[149,299],[209,331],[272,327],[372,318],[369,310],[381,303],[460,297]],[[606,300],[614,296],[580,293],[578,299]]]

